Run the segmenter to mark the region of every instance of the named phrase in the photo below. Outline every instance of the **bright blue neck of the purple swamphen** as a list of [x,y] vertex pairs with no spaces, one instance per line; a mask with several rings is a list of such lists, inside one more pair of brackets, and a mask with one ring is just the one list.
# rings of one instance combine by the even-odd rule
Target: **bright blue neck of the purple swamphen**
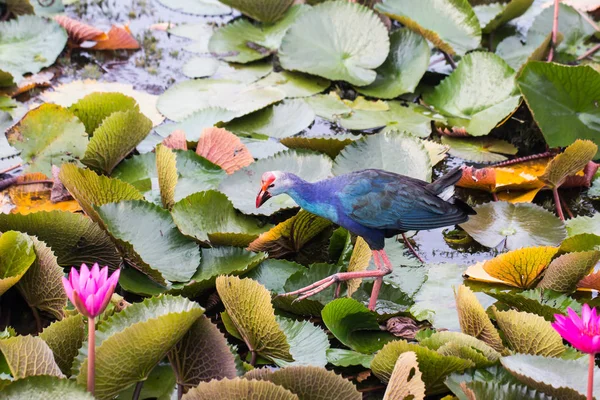
[[306,182],[296,175],[290,174],[290,179],[294,182],[285,193],[304,210],[336,221],[337,213],[332,207],[332,196],[328,190],[323,190],[317,183]]

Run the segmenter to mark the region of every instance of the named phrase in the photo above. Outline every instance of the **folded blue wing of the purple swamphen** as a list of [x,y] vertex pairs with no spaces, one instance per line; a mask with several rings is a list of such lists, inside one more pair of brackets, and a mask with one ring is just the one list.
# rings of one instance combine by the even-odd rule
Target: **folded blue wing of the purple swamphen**
[[459,208],[425,186],[396,174],[366,170],[350,176],[338,197],[349,218],[376,229],[426,230],[466,220]]

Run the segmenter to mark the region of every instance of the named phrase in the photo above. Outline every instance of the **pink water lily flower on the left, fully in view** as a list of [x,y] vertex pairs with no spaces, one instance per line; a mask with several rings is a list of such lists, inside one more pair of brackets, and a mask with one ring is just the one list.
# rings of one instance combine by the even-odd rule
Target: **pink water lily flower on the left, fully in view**
[[108,305],[119,274],[120,270],[116,270],[108,277],[108,267],[100,269],[96,263],[90,271],[87,265],[82,264],[79,273],[71,268],[69,279],[63,278],[63,286],[67,297],[82,315],[96,318]]

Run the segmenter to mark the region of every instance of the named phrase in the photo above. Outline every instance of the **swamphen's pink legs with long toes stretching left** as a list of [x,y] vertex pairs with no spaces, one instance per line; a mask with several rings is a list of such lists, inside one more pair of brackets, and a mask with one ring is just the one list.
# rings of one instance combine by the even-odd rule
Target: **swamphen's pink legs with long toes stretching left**
[[[385,268],[381,268],[381,262],[380,262],[379,258],[377,257],[378,255],[383,260]],[[383,280],[382,278],[385,275],[392,272],[390,260],[388,259],[387,255],[385,254],[385,251],[383,251],[383,250],[379,250],[379,251],[374,250],[373,257],[375,259],[375,265],[377,266],[377,269],[374,271],[339,272],[337,274],[328,276],[327,278],[321,279],[320,281],[317,281],[317,282],[313,283],[312,285],[308,285],[302,289],[294,290],[293,292],[283,293],[283,294],[280,294],[279,296],[298,295],[299,297],[295,301],[299,301],[299,300],[304,300],[312,295],[315,295],[315,294],[327,289],[329,286],[333,285],[334,283],[345,282],[350,279],[361,279],[361,278],[379,278],[379,279]],[[376,283],[377,283],[377,281],[376,281]],[[369,309],[371,309],[371,310],[373,310],[375,308],[375,302],[377,301],[377,295],[379,294],[379,289],[381,288],[381,283],[379,285],[377,285],[376,283],[373,285],[373,291],[371,292],[371,299],[369,300]]]

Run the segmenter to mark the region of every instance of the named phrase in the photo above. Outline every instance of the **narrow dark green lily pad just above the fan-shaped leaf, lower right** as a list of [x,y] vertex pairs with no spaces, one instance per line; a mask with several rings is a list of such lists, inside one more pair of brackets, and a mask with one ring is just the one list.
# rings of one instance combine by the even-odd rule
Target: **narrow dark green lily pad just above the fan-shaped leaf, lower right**
[[554,321],[554,314],[567,315],[569,307],[575,312],[581,311],[581,304],[577,301],[552,290],[531,289],[521,292],[490,290],[485,293],[508,307],[537,314],[550,322]]

